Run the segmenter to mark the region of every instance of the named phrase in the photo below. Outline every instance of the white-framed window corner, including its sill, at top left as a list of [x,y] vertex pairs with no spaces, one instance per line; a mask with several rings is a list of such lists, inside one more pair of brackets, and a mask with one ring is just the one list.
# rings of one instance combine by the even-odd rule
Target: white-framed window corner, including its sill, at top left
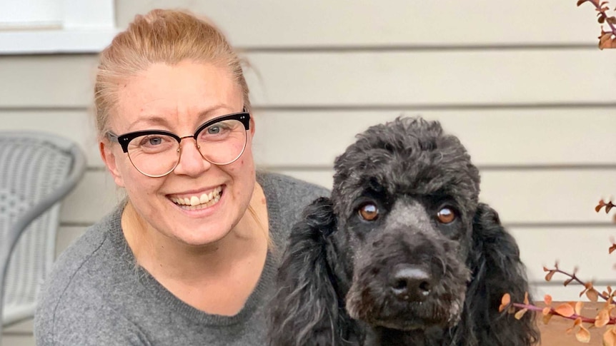
[[99,52],[114,15],[114,0],[0,1],[0,54]]

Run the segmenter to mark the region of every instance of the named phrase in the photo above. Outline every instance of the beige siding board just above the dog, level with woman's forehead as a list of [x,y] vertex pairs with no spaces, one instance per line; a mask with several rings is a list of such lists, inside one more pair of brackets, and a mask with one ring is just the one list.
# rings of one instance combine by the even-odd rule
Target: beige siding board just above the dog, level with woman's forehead
[[[612,56],[598,49],[250,53],[247,59],[252,101],[260,107],[616,102]],[[89,107],[95,63],[93,56],[0,56],[0,108]]]

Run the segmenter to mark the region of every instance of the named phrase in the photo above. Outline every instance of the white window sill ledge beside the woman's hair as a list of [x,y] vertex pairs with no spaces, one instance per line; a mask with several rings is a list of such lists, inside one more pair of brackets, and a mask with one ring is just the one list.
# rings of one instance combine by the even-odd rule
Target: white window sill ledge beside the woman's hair
[[0,31],[0,54],[98,53],[117,33],[100,28]]

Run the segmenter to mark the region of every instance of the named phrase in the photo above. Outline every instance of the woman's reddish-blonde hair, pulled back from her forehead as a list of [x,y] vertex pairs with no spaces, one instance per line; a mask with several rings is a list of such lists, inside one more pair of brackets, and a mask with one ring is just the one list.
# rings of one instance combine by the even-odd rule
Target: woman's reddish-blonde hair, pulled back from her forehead
[[101,138],[117,103],[119,84],[152,63],[175,64],[190,60],[228,68],[242,90],[244,106],[251,108],[243,61],[214,24],[188,11],[154,9],[135,16],[129,27],[101,52],[99,59],[94,113]]

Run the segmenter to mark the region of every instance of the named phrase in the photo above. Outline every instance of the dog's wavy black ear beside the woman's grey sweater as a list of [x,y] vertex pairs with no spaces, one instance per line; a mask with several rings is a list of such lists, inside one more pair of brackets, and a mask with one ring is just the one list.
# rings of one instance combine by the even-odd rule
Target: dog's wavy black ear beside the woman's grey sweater
[[269,310],[270,345],[344,345],[349,317],[335,230],[329,198],[314,200],[292,228]]

